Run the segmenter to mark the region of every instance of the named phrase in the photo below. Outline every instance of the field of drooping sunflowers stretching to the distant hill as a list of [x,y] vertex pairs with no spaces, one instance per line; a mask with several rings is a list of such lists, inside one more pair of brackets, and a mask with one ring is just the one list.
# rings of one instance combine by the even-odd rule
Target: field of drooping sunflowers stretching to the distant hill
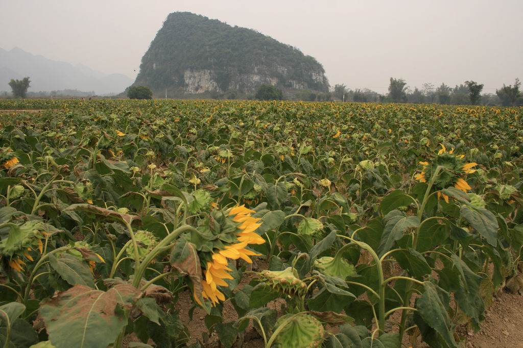
[[5,348],[459,347],[523,284],[523,108],[0,110]]

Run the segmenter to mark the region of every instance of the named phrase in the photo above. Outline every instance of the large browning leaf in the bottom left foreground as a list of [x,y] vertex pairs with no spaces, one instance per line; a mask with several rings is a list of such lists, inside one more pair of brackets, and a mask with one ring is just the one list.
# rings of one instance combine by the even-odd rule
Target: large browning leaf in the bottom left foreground
[[75,285],[44,300],[40,315],[56,348],[106,348],[127,325],[129,309],[139,297],[130,284],[107,292]]

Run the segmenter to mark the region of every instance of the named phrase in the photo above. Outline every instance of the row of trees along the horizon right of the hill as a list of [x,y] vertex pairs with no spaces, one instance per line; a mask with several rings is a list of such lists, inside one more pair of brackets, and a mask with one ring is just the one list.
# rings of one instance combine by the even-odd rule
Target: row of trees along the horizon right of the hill
[[516,78],[514,84],[505,85],[496,89],[495,94],[481,94],[483,84],[473,80],[450,87],[442,83],[435,87],[431,83],[415,87],[412,90],[402,78],[390,78],[389,93],[378,94],[368,88],[348,89],[344,84],[335,85],[333,96],[343,101],[375,101],[375,102],[405,102],[405,103],[439,103],[453,105],[502,105],[523,106],[523,96],[520,91],[521,83]]

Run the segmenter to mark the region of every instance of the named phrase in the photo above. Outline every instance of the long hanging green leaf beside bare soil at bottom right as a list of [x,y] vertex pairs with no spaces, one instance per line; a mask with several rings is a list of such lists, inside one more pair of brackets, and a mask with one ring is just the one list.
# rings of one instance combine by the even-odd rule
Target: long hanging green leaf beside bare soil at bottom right
[[448,315],[449,293],[430,282],[424,282],[425,292],[416,301],[416,309],[421,318],[438,332],[451,347],[457,348],[454,341],[451,321]]

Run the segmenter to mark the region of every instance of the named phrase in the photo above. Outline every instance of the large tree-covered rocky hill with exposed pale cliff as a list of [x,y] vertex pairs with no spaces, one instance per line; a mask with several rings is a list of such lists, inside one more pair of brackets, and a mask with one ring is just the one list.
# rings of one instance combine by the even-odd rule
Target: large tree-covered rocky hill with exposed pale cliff
[[328,90],[320,63],[296,48],[251,29],[218,20],[172,13],[142,58],[134,85],[198,95],[253,93],[259,85]]

